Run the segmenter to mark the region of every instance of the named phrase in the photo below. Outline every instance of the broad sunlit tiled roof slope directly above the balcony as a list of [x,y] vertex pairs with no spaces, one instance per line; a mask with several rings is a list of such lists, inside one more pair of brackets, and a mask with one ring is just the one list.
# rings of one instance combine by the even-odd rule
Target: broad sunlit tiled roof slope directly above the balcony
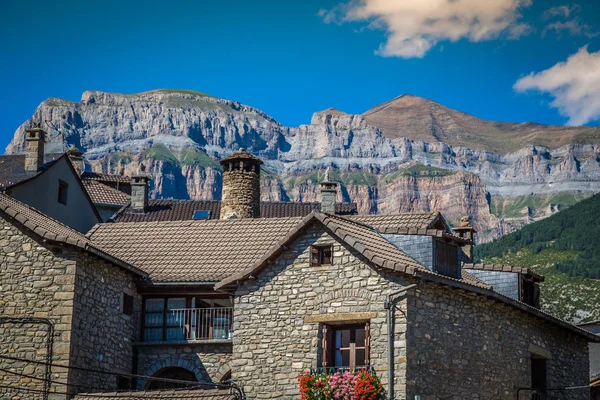
[[219,281],[260,258],[301,218],[125,222],[96,225],[93,243],[155,281]]

